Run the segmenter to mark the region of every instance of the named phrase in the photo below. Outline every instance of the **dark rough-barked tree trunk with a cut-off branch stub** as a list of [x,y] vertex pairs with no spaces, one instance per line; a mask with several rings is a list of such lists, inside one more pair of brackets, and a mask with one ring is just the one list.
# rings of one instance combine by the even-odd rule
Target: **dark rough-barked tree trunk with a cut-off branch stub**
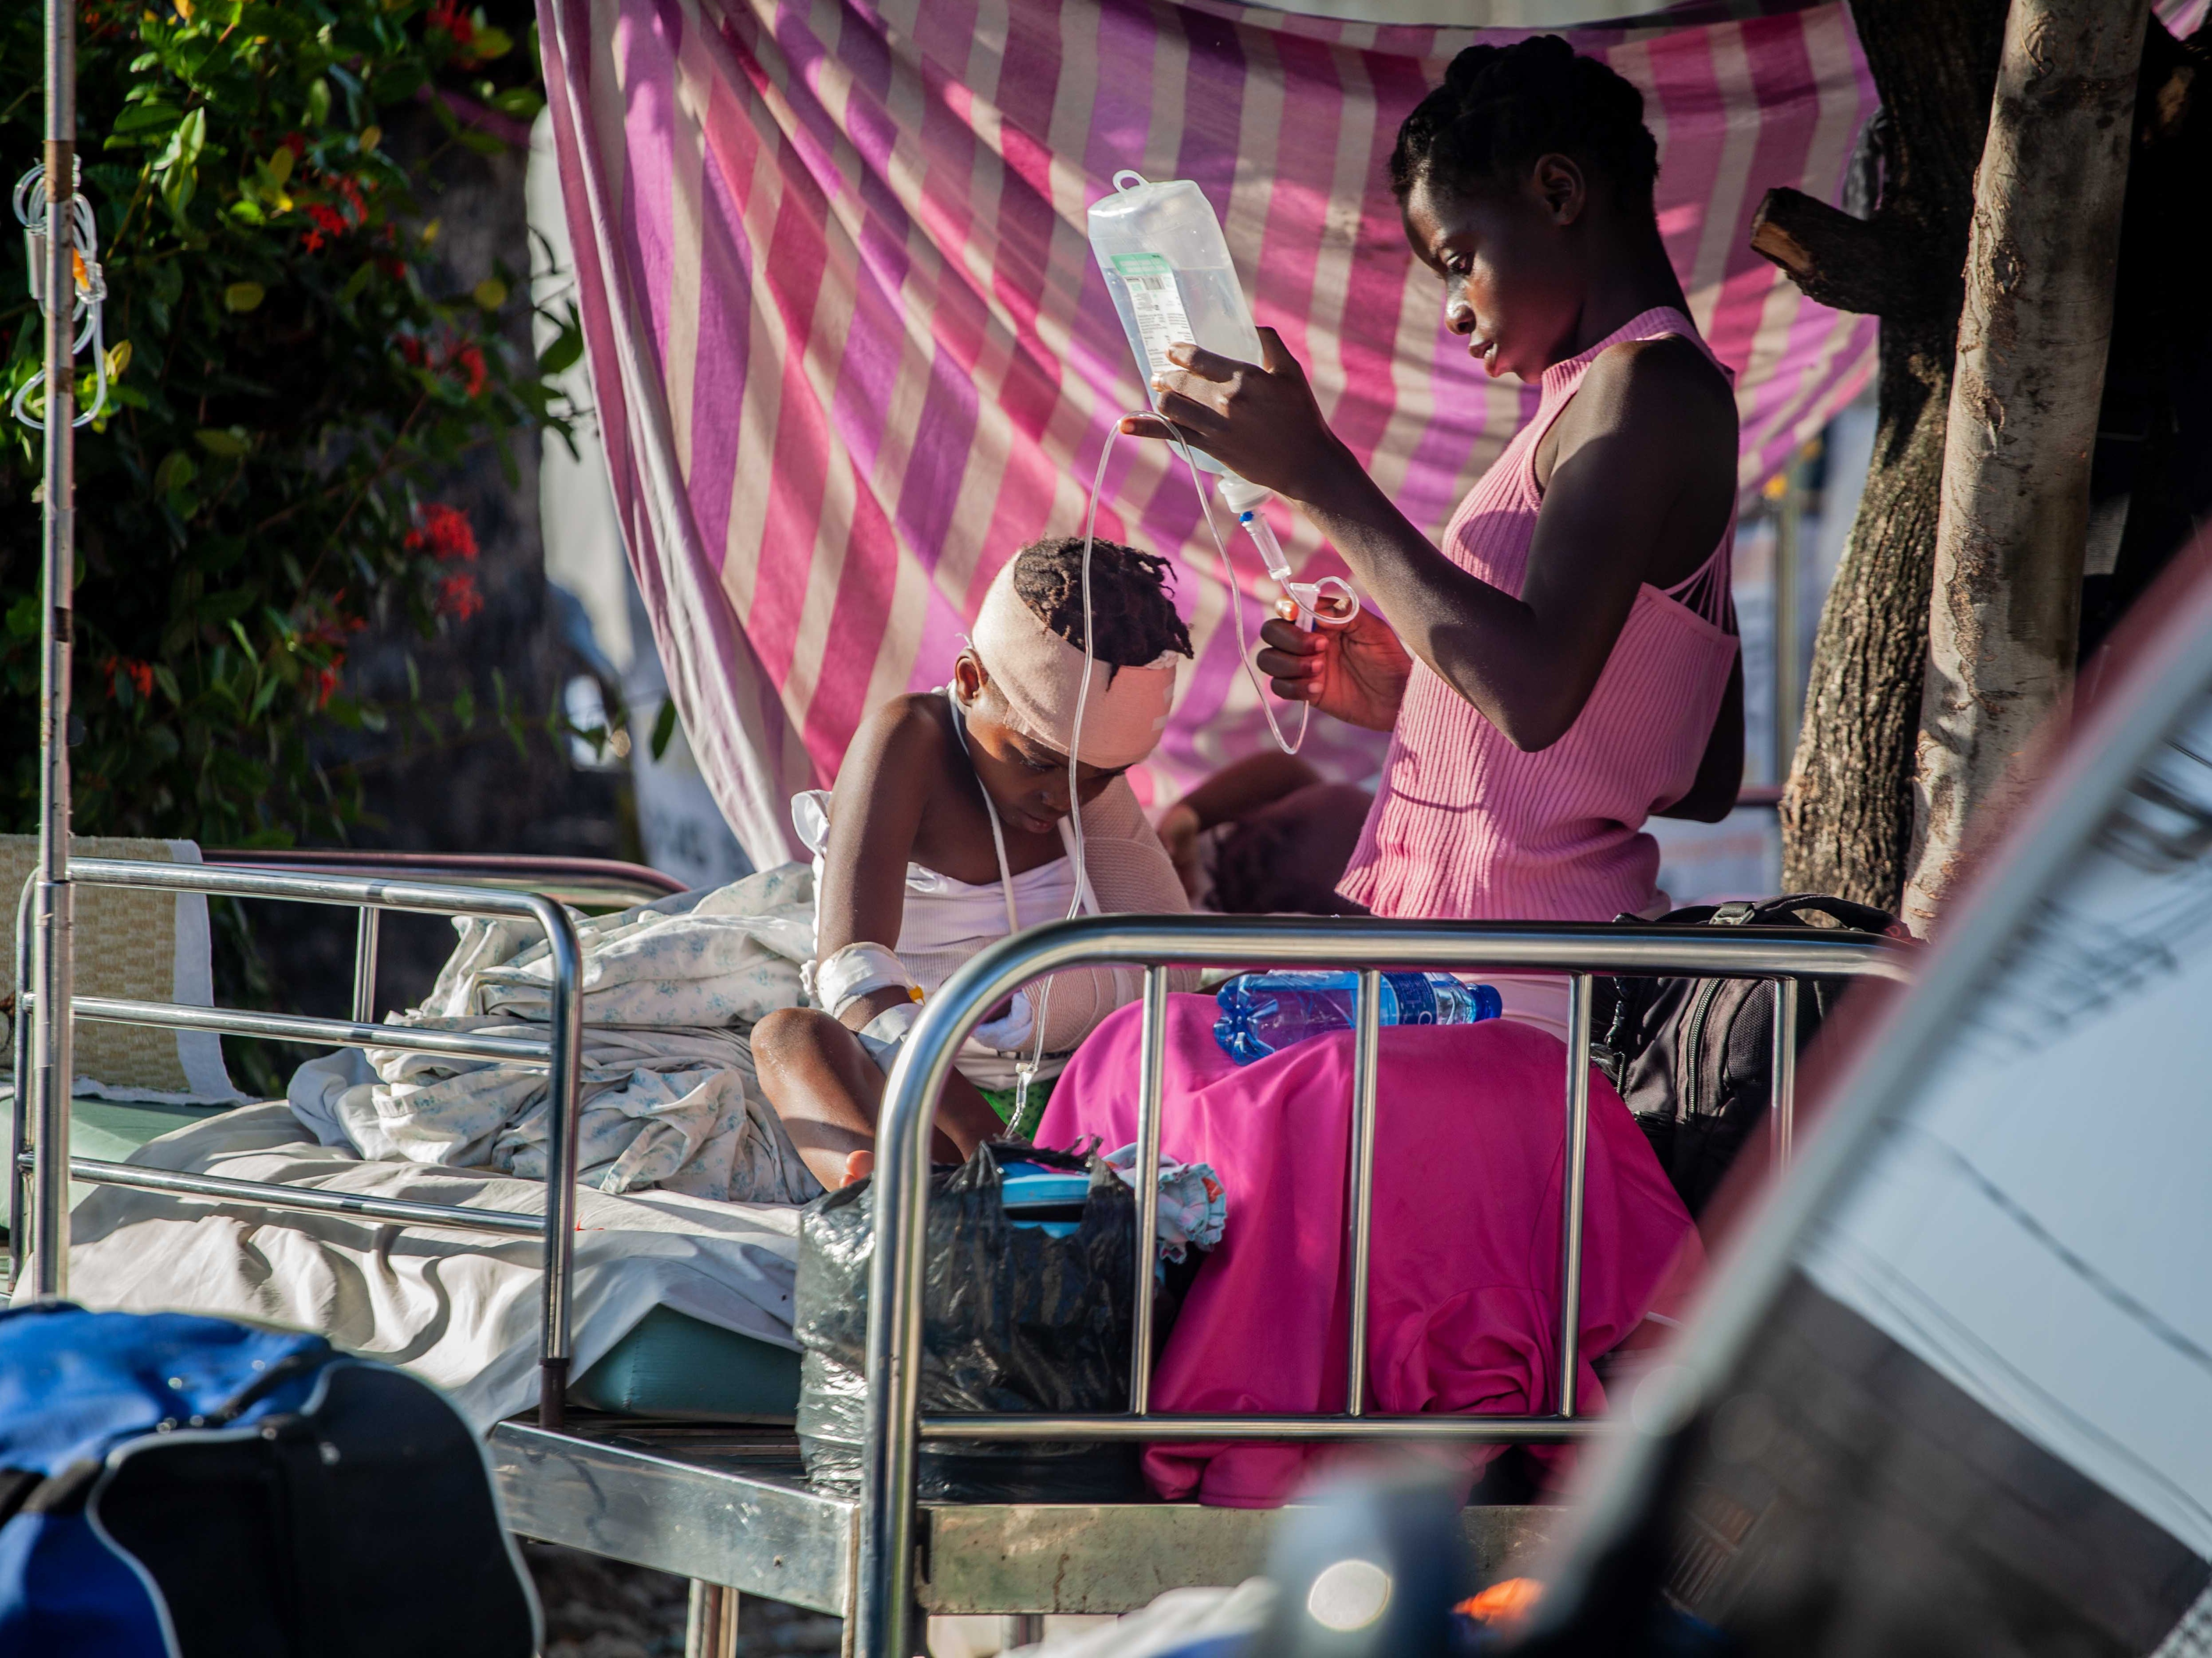
[[2004,0],[1851,0],[1882,97],[1874,214],[1776,190],[1752,232],[1812,298],[1882,318],[1874,466],[1783,794],[1785,891],[1893,909],[1905,886],[1960,272],[2004,13]]

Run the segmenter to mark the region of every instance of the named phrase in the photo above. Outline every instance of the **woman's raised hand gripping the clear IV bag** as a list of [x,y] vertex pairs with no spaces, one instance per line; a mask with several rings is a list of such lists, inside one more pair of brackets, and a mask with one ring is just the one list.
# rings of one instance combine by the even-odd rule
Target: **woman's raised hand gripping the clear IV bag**
[[1305,369],[1272,327],[1259,332],[1261,360],[1239,363],[1197,345],[1175,345],[1179,367],[1152,376],[1159,413],[1128,416],[1137,438],[1183,438],[1232,473],[1283,500],[1314,502],[1358,462],[1321,418]]

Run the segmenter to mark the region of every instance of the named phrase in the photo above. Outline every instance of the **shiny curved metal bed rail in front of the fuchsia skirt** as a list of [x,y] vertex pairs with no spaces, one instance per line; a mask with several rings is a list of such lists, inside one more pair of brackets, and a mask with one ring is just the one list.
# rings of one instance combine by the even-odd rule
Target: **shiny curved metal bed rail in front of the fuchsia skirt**
[[[1137,1249],[1126,1415],[922,1417],[922,1249],[929,1207],[929,1130],[953,1057],[1002,997],[1031,979],[1077,966],[1139,964],[1137,1203],[1139,1240],[1150,1240],[1159,1203],[1161,1088],[1170,966],[1334,966],[1360,973],[1347,1156],[1347,1253],[1352,1311],[1345,1337],[1343,1415],[1164,1415],[1150,1408],[1152,1251]],[[1566,1180],[1559,1216],[1559,1342],[1555,1415],[1444,1417],[1367,1410],[1367,1267],[1374,1216],[1376,1077],[1380,975],[1418,970],[1544,970],[1571,975],[1566,1054]],[[1385,922],[1219,915],[1099,915],[1018,933],[962,966],[905,1041],[885,1085],[876,1136],[876,1253],[867,1304],[867,1426],[860,1463],[858,1561],[852,1651],[900,1658],[914,1651],[916,1452],[922,1439],[1394,1439],[1557,1441],[1597,1430],[1575,1413],[1582,1300],[1582,1209],[1590,1127],[1590,999],[1595,975],[1697,975],[1772,979],[1772,1145],[1787,1158],[1796,1114],[1796,1008],[1809,977],[1909,982],[1900,946],[1865,935],[1796,928],[1604,926],[1517,922]]]

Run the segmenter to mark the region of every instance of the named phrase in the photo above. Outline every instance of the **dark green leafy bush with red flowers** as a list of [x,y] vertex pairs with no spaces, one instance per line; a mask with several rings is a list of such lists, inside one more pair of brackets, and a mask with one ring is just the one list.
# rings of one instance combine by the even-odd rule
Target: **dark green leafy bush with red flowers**
[[[378,705],[347,661],[367,628],[383,646],[471,626],[467,562],[409,539],[471,455],[511,466],[507,449],[564,429],[566,409],[502,329],[520,279],[456,285],[431,256],[420,157],[453,153],[387,144],[385,124],[420,133],[429,111],[471,133],[416,102],[425,86],[507,119],[542,99],[484,77],[513,42],[471,18],[456,53],[420,0],[150,0],[86,18],[84,186],[115,413],[77,447],[77,822],[215,844],[343,838],[358,767],[380,754],[544,741],[489,665],[476,688],[416,679]],[[35,86],[40,60],[40,7],[0,7],[0,84]],[[513,53],[500,75],[529,71]],[[35,97],[0,99],[0,150],[35,155],[40,122]],[[456,141],[504,148],[482,130]],[[38,371],[20,259],[20,239],[0,239],[0,398]],[[571,316],[549,358],[580,351]],[[0,422],[0,827],[31,822],[38,800],[38,478],[33,436]]]

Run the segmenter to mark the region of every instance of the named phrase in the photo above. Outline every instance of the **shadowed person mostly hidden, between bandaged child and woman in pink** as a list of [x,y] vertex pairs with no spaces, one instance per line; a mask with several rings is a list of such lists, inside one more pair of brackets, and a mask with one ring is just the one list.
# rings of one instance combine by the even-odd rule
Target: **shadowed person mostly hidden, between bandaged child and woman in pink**
[[1365,915],[1343,898],[1374,796],[1296,754],[1248,754],[1159,816],[1183,893],[1217,915]]

